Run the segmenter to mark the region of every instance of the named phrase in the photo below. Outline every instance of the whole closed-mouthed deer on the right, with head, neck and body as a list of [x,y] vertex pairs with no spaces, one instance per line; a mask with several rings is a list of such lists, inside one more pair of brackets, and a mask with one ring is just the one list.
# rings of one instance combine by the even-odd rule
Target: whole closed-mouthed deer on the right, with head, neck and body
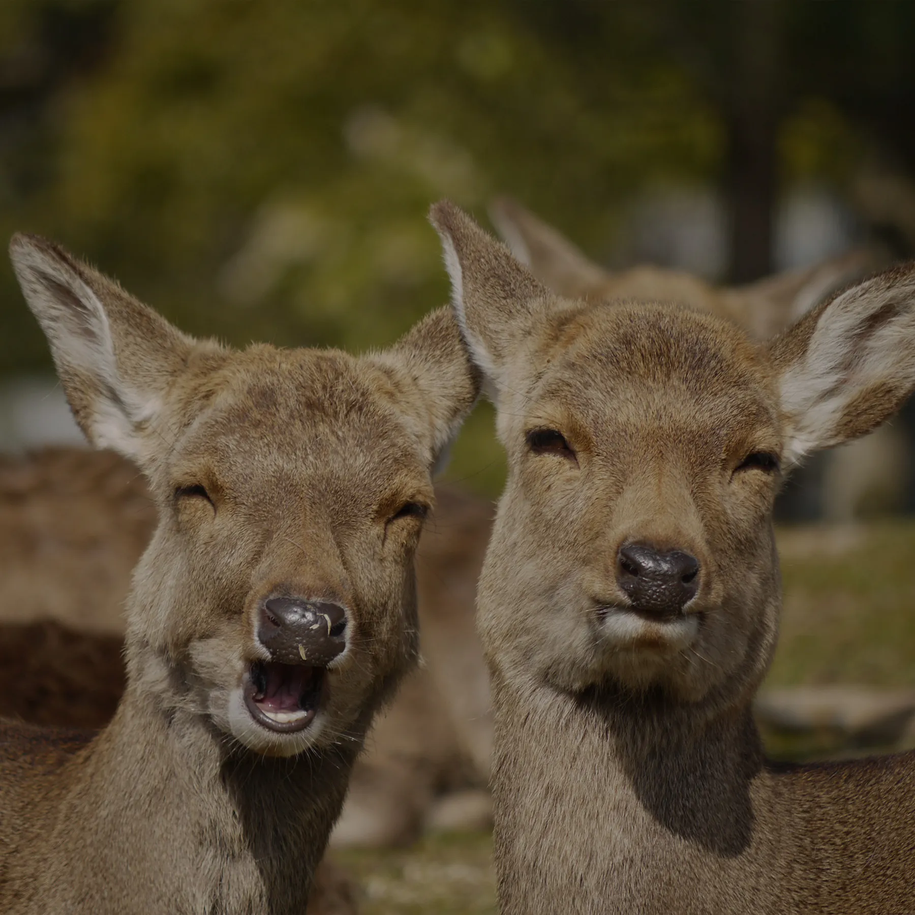
[[915,755],[765,759],[784,475],[915,388],[915,264],[768,342],[556,296],[443,201],[508,458],[478,590],[501,911],[915,911]]

